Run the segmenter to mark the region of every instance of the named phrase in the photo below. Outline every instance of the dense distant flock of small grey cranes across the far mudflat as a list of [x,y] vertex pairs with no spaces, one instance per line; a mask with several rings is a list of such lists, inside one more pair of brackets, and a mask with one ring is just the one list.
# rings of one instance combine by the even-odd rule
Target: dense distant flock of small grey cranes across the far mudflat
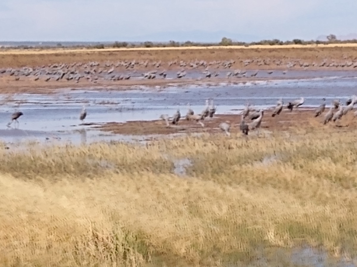
[[[97,80],[129,80],[131,78],[144,78],[144,79],[155,79],[158,77],[166,78],[168,75],[167,70],[165,69],[165,65],[167,68],[179,67],[181,68],[177,73],[175,78],[183,78],[186,76],[186,70],[193,69],[202,69],[203,77],[201,78],[211,78],[217,77],[218,75],[222,75],[217,71],[211,71],[210,69],[231,69],[238,63],[244,67],[250,66],[250,68],[260,67],[260,66],[271,66],[275,67],[286,67],[286,70],[283,71],[283,74],[287,73],[287,69],[292,67],[301,67],[301,68],[309,68],[309,67],[342,67],[342,68],[357,68],[357,61],[328,61],[327,59],[323,60],[320,63],[317,62],[303,62],[301,59],[290,59],[290,60],[280,60],[280,59],[270,59],[270,58],[253,58],[253,59],[241,59],[236,62],[233,59],[225,60],[225,61],[211,61],[207,62],[205,60],[191,60],[191,61],[136,61],[134,60],[125,60],[118,62],[74,62],[71,64],[67,63],[55,63],[49,64],[48,66],[40,66],[40,67],[22,67],[22,68],[2,68],[0,69],[0,75],[10,75],[15,78],[15,80],[20,80],[20,77],[28,77],[34,81],[44,80],[48,81],[60,81],[60,80],[74,80],[79,82],[80,80],[88,80],[90,82],[96,82]],[[154,68],[154,70],[137,73],[138,69],[147,69]],[[119,69],[126,70],[125,74],[119,73]],[[254,72],[252,74],[247,74],[246,70],[232,70],[226,73],[226,77],[255,77],[258,72]],[[272,74],[273,71],[267,71],[268,74]]]

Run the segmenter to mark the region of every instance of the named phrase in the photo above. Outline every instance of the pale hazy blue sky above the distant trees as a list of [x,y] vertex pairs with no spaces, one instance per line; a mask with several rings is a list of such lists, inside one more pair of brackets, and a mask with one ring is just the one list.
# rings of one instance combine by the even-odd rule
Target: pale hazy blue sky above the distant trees
[[315,39],[357,33],[356,12],[357,0],[0,0],[0,41],[169,41],[196,30]]

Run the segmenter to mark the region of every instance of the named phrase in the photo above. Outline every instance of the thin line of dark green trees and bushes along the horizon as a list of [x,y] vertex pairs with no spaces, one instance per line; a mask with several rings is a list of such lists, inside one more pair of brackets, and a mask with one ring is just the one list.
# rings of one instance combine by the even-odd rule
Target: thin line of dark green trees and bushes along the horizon
[[[141,42],[141,43],[131,43],[131,42],[114,42],[112,44],[96,44],[92,46],[62,46],[61,43],[57,43],[57,48],[63,49],[63,48],[94,48],[94,49],[104,49],[104,48],[135,48],[135,47],[189,47],[189,46],[253,46],[253,45],[266,45],[266,46],[276,46],[276,45],[319,45],[319,44],[330,44],[330,43],[357,43],[356,39],[353,40],[338,40],[336,38],[336,35],[330,34],[326,37],[326,41],[319,41],[319,40],[311,40],[311,41],[306,41],[302,39],[294,39],[292,41],[281,41],[278,39],[272,39],[272,40],[261,40],[258,42],[237,42],[233,41],[230,38],[223,37],[222,40],[219,43],[203,43],[203,42],[192,42],[192,41],[186,41],[186,42],[175,42],[175,41],[169,41],[169,42]],[[53,48],[51,46],[42,46],[42,47],[31,47],[31,46],[17,46],[17,47],[2,47],[0,49],[31,49],[31,48],[37,48],[37,49],[50,49]]]

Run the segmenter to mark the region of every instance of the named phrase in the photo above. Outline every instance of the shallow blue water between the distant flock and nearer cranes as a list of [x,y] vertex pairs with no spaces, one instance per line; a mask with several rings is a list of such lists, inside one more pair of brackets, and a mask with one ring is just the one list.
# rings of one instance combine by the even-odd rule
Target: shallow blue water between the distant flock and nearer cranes
[[[266,71],[260,71],[257,77],[265,75],[264,73],[269,76]],[[305,78],[294,78],[301,76]],[[287,77],[291,79],[286,79]],[[87,103],[85,122],[103,124],[154,120],[161,114],[172,115],[176,109],[180,109],[184,115],[187,103],[198,113],[204,109],[207,98],[214,99],[218,114],[238,114],[247,101],[254,108],[266,109],[275,105],[278,98],[283,98],[286,103],[304,96],[303,106],[313,107],[320,105],[323,97],[326,98],[327,105],[330,105],[334,98],[345,102],[349,96],[357,94],[355,71],[289,71],[284,78],[229,85],[221,83],[215,86],[142,87],[125,91],[69,88],[59,90],[56,94],[15,94],[10,101],[6,101],[5,95],[0,95],[0,102],[4,103],[0,108],[0,137],[5,142],[61,140],[89,143],[133,140],[132,136],[112,135],[95,130],[92,126],[80,125],[79,113],[83,103]],[[8,129],[6,124],[15,110],[24,113],[19,118],[19,129],[12,129],[14,123]],[[147,136],[136,138],[145,140]]]

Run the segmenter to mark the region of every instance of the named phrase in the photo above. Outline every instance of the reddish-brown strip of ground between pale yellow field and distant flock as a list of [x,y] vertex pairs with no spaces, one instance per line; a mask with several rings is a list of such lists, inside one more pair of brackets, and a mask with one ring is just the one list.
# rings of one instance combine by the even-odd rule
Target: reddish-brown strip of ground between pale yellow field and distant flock
[[[11,53],[0,53],[0,68],[16,68],[16,67],[38,67],[54,63],[74,63],[74,62],[91,62],[99,63],[117,62],[117,61],[161,61],[166,69],[178,69],[180,66],[174,65],[171,68],[167,66],[170,61],[194,61],[204,60],[211,61],[226,61],[233,59],[236,62],[232,68],[246,69],[285,69],[286,64],[296,60],[302,63],[321,63],[327,62],[343,63],[346,61],[356,61],[357,47],[293,47],[293,48],[202,48],[202,49],[114,49],[114,50],[92,50],[92,51],[58,51],[47,53],[46,51],[36,51],[35,53],[23,53],[15,51]],[[258,61],[256,61],[258,59]],[[260,65],[260,60],[266,61],[281,61],[280,65],[270,64]],[[248,66],[244,66],[244,62],[250,60]],[[123,67],[124,68],[124,67]],[[137,68],[144,68],[138,66]],[[294,68],[300,68],[294,67]],[[311,68],[328,68],[328,67],[311,67]],[[334,67],[334,69],[344,69],[346,67]]]

